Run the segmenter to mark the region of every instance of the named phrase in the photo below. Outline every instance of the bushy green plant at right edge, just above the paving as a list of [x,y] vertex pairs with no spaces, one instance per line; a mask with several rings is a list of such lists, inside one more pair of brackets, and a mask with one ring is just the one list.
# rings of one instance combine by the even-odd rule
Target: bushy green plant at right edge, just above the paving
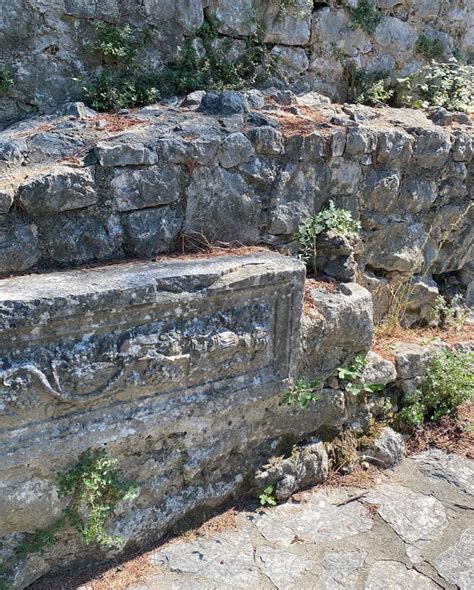
[[402,400],[397,423],[414,428],[437,422],[474,397],[474,353],[441,350],[431,361],[420,387]]

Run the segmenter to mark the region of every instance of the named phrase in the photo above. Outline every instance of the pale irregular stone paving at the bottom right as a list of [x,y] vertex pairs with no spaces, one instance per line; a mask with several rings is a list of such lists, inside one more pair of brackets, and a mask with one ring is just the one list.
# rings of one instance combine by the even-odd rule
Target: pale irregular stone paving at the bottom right
[[472,590],[473,511],[474,461],[433,449],[371,489],[314,489],[239,513],[235,528],[173,541],[147,555],[133,583],[106,587]]

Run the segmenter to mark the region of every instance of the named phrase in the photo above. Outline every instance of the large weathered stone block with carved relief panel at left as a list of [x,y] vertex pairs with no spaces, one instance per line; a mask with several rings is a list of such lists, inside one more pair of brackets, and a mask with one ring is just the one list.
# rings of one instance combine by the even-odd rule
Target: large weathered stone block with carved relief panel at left
[[[0,546],[54,522],[56,473],[89,447],[139,485],[110,531],[140,541],[218,505],[279,437],[340,428],[337,396],[295,413],[279,403],[303,282],[300,262],[266,252],[5,279]],[[61,555],[84,558],[68,539],[20,564],[24,585]]]

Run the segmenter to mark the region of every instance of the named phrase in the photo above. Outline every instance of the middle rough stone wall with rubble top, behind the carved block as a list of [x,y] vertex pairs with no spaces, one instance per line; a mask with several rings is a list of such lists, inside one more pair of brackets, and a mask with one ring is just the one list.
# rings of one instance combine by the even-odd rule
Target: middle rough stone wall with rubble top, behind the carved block
[[[65,112],[0,134],[4,275],[222,243],[294,253],[299,223],[332,199],[362,222],[354,247],[372,291],[409,278],[416,311],[436,297],[432,275],[472,281],[465,115],[255,90],[123,116]],[[330,244],[322,270],[353,279],[332,264],[347,248]]]

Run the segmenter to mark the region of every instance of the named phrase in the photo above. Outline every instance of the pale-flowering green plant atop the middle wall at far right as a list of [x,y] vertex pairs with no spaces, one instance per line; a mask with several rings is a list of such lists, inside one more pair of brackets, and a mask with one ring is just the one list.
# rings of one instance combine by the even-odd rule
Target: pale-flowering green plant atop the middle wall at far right
[[462,65],[455,58],[446,63],[432,61],[418,72],[397,80],[396,102],[414,108],[438,106],[451,111],[471,111],[474,66]]

